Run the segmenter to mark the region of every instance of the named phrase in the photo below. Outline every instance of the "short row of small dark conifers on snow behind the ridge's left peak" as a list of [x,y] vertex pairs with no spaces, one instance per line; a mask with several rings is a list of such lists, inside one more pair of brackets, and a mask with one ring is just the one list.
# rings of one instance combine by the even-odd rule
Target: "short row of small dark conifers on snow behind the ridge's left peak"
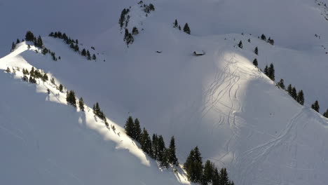
[[[65,43],[69,45],[69,47],[74,50],[75,52],[81,54],[83,57],[86,57],[87,60],[96,60],[97,57],[95,54],[91,56],[90,51],[86,50],[86,48],[83,48],[83,50],[80,51],[80,48],[78,47],[78,39],[71,39],[71,37],[67,36],[67,34],[62,33],[62,32],[51,32],[49,36],[53,38],[59,38],[63,39]],[[93,47],[91,47],[93,48]],[[93,48],[93,50],[95,50]]]

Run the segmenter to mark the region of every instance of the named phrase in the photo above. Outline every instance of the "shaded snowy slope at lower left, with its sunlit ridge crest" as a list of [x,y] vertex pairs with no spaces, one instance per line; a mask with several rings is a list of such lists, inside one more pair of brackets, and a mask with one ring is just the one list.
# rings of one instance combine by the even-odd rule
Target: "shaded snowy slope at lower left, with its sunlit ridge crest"
[[179,168],[159,170],[116,123],[109,121],[116,130],[108,130],[90,107],[67,106],[49,81],[22,81],[23,67],[31,66],[15,54],[35,55],[26,50],[22,43],[1,59],[1,69],[20,67],[0,73],[1,184],[189,184]]

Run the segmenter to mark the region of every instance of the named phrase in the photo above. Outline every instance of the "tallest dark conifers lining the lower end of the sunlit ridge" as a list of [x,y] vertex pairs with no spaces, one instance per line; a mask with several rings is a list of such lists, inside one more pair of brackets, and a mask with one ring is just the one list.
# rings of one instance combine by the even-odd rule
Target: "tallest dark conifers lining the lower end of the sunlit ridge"
[[[126,134],[141,145],[142,151],[154,160],[158,160],[160,167],[168,168],[170,165],[179,165],[176,156],[175,137],[171,137],[170,146],[166,148],[162,135],[153,134],[151,139],[146,128],[141,129],[139,120],[137,118],[133,120],[132,116],[129,116],[124,128]],[[186,163],[184,163],[184,169],[189,181],[194,183],[204,185],[234,184],[233,181],[229,181],[226,168],[222,168],[219,172],[210,160],[207,160],[205,165],[203,165],[203,159],[198,146],[191,150]]]

